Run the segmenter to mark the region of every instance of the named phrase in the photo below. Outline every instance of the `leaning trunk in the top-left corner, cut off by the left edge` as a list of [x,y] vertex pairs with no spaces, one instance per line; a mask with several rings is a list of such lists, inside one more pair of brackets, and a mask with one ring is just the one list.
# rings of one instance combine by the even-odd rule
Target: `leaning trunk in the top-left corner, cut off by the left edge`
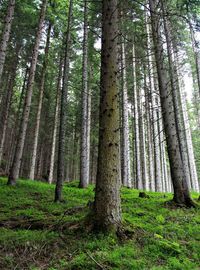
[[1,84],[2,74],[3,74],[5,58],[6,58],[7,45],[10,38],[14,10],[15,10],[15,0],[10,0],[8,4],[4,30],[3,30],[3,34],[1,38],[1,43],[0,43],[0,84]]

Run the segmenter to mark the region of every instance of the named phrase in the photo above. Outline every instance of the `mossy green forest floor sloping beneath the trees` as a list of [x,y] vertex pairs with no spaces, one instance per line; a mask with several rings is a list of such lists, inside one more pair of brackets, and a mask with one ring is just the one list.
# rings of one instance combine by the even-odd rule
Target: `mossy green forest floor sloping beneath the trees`
[[[95,235],[83,226],[93,186],[64,186],[65,203],[53,203],[54,186],[0,179],[0,269],[200,269],[200,209],[169,209],[171,194],[122,189],[127,238]],[[193,194],[193,198],[197,198]]]

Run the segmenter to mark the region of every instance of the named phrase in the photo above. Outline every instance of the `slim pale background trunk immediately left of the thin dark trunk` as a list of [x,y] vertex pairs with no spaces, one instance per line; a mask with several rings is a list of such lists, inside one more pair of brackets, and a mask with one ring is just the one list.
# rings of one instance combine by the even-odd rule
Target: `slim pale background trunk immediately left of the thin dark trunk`
[[55,113],[54,113],[54,128],[53,128],[53,135],[52,135],[51,157],[50,157],[50,167],[49,167],[49,176],[48,176],[49,184],[53,182],[53,175],[54,175],[54,161],[55,161],[55,152],[56,152],[56,137],[57,137],[57,130],[58,130],[58,122],[59,122],[58,114],[59,114],[59,104],[60,104],[62,69],[63,69],[63,61],[61,59],[60,67],[59,67],[58,83],[57,83],[56,108],[55,108]]

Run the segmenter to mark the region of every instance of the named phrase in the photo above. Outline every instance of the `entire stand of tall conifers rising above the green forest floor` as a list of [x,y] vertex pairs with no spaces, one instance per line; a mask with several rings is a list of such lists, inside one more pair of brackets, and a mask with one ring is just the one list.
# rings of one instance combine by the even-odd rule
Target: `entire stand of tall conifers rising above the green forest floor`
[[197,2],[1,1],[0,162],[8,184],[54,182],[62,201],[64,181],[96,183],[94,221],[106,230],[121,223],[121,185],[173,192],[175,203],[194,206]]

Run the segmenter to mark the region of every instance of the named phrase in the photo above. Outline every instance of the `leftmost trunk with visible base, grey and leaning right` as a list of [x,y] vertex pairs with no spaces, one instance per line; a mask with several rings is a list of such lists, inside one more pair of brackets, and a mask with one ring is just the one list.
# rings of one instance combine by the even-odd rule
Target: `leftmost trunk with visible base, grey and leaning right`
[[13,159],[13,163],[12,163],[9,177],[8,177],[8,185],[15,185],[16,180],[19,177],[22,154],[23,154],[23,149],[24,149],[24,142],[25,142],[25,137],[26,137],[26,130],[27,130],[27,125],[28,125],[29,113],[30,113],[33,84],[34,84],[34,79],[35,79],[35,71],[36,71],[36,65],[37,65],[37,59],[38,59],[38,53],[39,53],[39,44],[40,44],[40,39],[42,37],[43,22],[45,19],[47,3],[48,3],[48,0],[43,0],[42,2],[38,31],[37,31],[35,45],[34,45],[33,54],[32,54],[23,115],[22,115],[22,119],[20,123],[20,129],[19,129],[19,134],[18,134],[18,139],[17,139],[17,146],[15,149],[14,159]]

